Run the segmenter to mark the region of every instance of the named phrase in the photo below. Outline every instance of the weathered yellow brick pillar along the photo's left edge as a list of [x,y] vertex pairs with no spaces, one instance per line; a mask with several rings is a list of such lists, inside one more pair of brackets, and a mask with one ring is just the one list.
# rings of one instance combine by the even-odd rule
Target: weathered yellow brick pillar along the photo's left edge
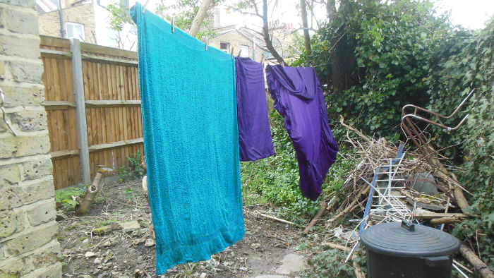
[[35,0],[0,0],[0,277],[61,277]]

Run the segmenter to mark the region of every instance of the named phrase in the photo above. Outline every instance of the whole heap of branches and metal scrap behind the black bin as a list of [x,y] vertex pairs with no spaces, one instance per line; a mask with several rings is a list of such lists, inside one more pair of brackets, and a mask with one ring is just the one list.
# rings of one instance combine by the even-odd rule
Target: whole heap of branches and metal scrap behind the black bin
[[[321,203],[320,212],[303,231],[304,234],[309,234],[311,228],[319,220],[324,220],[325,225],[330,228],[330,226],[335,226],[335,223],[342,222],[342,217],[345,215],[353,214],[353,219],[350,219],[349,222],[347,218],[344,219],[343,225],[347,226],[347,235],[334,236],[333,234],[338,234],[337,229],[339,229],[339,235],[342,234],[342,226],[332,227],[327,229],[331,231],[331,234],[326,236],[327,242],[323,244],[330,247],[335,245],[336,243],[328,242],[331,241],[330,238],[335,237],[339,237],[343,242],[346,241],[344,250],[346,250],[345,253],[348,253],[348,260],[354,258],[351,253],[358,246],[359,226],[362,222],[364,223],[363,226],[372,226],[380,222],[400,221],[400,218],[406,218],[409,221],[433,227],[440,225],[439,229],[451,231],[455,224],[462,222],[467,217],[478,217],[468,212],[462,212],[462,209],[468,206],[463,194],[467,191],[459,184],[456,176],[450,174],[440,162],[438,152],[428,146],[430,155],[424,157],[421,152],[411,149],[404,150],[402,159],[397,163],[399,164],[397,169],[389,167],[387,170],[389,173],[383,173],[381,170],[378,173],[382,174],[375,175],[378,167],[382,169],[382,165],[386,165],[388,161],[391,163],[392,159],[395,159],[393,162],[397,161],[399,147],[388,142],[385,138],[370,138],[344,123],[343,119],[340,123],[347,128],[347,141],[356,150],[354,155],[347,155],[344,159],[353,160],[356,167],[349,173],[342,188],[333,191]],[[392,181],[389,183],[387,176],[392,176]],[[371,182],[375,183],[375,186],[371,186]],[[387,185],[392,188],[390,190],[392,192],[380,189]],[[370,202],[372,204],[370,209],[368,207],[366,210],[370,188],[374,188],[375,193],[372,202]],[[380,203],[378,202],[383,200],[384,202],[379,206]],[[402,207],[406,207],[406,209],[402,210]],[[328,214],[330,216],[325,218]],[[471,243],[462,243],[461,253],[464,258],[482,277],[494,277],[489,267],[471,249],[476,250],[471,246]],[[455,264],[458,267],[464,267],[459,262],[455,261]],[[355,265],[354,263],[354,267]]]

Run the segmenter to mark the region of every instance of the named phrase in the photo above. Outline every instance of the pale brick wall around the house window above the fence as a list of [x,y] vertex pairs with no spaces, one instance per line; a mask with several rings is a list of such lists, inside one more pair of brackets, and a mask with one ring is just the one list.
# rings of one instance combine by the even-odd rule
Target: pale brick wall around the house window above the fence
[[[1,0],[0,0],[1,1]],[[92,4],[63,8],[64,24],[67,22],[80,23],[84,25],[85,42],[92,44],[95,40],[95,11]],[[39,15],[40,35],[61,37],[59,11],[51,11]],[[66,26],[64,26],[66,28]]]

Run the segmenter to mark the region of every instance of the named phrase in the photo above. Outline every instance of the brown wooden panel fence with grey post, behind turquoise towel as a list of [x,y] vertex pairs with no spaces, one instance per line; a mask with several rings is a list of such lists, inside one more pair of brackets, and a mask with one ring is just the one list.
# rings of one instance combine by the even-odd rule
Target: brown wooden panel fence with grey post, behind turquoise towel
[[46,36],[40,49],[55,188],[142,154],[137,53]]

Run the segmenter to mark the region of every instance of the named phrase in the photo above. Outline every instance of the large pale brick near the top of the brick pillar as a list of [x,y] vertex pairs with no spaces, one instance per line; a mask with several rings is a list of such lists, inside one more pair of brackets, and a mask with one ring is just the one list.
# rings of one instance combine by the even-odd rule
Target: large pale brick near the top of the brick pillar
[[6,11],[6,25],[11,32],[38,35],[38,23],[35,11],[9,8]]

